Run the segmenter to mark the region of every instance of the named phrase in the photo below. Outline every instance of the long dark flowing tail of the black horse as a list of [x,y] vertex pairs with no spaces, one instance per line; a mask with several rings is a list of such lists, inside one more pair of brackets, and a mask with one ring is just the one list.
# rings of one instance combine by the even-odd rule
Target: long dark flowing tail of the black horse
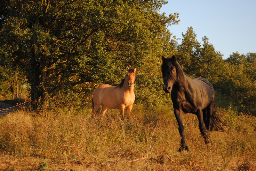
[[215,108],[215,104],[213,104],[213,114],[212,114],[212,122],[211,122],[210,131],[212,131],[212,130],[225,131],[223,126],[227,126],[227,124],[220,120],[220,115],[219,115],[217,109]]

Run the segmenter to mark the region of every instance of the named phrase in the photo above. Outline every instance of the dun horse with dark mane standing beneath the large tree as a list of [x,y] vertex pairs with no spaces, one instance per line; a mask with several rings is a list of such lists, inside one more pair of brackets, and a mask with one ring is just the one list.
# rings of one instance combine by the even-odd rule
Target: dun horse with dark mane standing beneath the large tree
[[122,119],[124,119],[124,109],[126,108],[127,118],[131,114],[132,104],[135,100],[133,92],[134,81],[136,79],[136,68],[126,67],[127,75],[118,86],[102,84],[98,86],[92,94],[92,113],[100,111],[105,115],[108,108],[119,108]]

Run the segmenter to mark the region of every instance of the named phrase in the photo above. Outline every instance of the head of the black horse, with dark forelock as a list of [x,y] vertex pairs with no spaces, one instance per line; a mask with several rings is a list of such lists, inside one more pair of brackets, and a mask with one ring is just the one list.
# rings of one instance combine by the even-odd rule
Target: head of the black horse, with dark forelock
[[162,64],[162,74],[164,78],[164,92],[171,93],[172,86],[177,82],[178,74],[176,68],[176,59],[173,55],[172,57],[165,58],[162,56],[163,64]]

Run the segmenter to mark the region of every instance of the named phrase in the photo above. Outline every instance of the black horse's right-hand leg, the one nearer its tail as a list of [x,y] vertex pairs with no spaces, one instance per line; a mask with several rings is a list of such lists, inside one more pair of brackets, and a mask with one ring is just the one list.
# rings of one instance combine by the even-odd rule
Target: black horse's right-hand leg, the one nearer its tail
[[[205,127],[202,109],[198,108],[197,112],[196,112],[196,115],[197,115],[198,122],[199,122],[200,132],[201,132],[202,136],[204,137],[204,142],[205,142],[205,144],[209,144],[209,143],[211,143],[211,139],[210,139],[209,132],[208,132],[208,130]],[[208,119],[208,117],[207,117],[207,119]]]

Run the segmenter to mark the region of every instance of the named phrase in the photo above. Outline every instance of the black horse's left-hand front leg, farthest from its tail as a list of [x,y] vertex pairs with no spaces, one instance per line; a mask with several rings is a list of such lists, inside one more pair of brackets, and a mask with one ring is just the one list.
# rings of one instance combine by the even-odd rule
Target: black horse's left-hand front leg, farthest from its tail
[[175,115],[178,125],[179,125],[179,132],[180,132],[180,137],[181,137],[179,152],[181,152],[183,150],[188,151],[188,146],[185,143],[185,128],[184,128],[184,124],[183,124],[182,117],[181,117],[182,113],[183,113],[182,110],[174,109],[174,115]]

